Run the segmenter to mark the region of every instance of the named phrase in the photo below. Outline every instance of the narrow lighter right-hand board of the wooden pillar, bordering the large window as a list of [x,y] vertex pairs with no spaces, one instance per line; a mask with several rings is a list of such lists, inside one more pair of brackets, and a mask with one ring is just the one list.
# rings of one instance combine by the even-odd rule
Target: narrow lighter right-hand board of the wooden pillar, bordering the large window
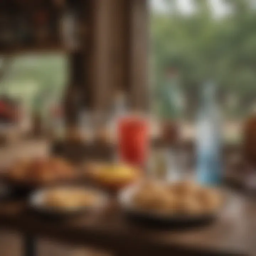
[[148,0],[129,0],[130,101],[139,110],[149,109],[149,10]]

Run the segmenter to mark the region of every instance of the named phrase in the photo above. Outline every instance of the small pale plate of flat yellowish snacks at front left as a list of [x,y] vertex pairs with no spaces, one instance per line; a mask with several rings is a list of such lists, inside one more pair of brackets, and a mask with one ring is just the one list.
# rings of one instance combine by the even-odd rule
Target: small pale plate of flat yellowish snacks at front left
[[50,215],[69,215],[100,209],[107,197],[93,188],[55,186],[33,192],[30,206],[37,212]]

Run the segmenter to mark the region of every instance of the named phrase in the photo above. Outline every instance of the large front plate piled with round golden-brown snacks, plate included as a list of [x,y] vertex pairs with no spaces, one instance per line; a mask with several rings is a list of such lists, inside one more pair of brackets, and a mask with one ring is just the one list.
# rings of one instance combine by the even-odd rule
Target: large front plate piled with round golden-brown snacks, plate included
[[223,206],[219,190],[191,181],[142,181],[124,188],[118,200],[132,217],[176,224],[213,219]]

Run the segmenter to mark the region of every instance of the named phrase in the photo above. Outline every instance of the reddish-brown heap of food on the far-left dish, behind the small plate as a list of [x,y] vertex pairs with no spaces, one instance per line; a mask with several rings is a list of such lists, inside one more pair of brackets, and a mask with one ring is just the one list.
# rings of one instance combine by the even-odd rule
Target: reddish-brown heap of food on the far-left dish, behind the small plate
[[41,186],[74,180],[74,167],[62,158],[19,159],[6,172],[7,180],[18,186]]

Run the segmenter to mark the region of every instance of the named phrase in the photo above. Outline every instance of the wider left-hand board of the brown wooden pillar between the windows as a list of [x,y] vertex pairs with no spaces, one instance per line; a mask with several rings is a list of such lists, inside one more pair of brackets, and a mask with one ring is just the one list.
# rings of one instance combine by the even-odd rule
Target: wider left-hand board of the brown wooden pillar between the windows
[[92,47],[94,108],[106,111],[117,89],[129,91],[128,1],[95,0]]

